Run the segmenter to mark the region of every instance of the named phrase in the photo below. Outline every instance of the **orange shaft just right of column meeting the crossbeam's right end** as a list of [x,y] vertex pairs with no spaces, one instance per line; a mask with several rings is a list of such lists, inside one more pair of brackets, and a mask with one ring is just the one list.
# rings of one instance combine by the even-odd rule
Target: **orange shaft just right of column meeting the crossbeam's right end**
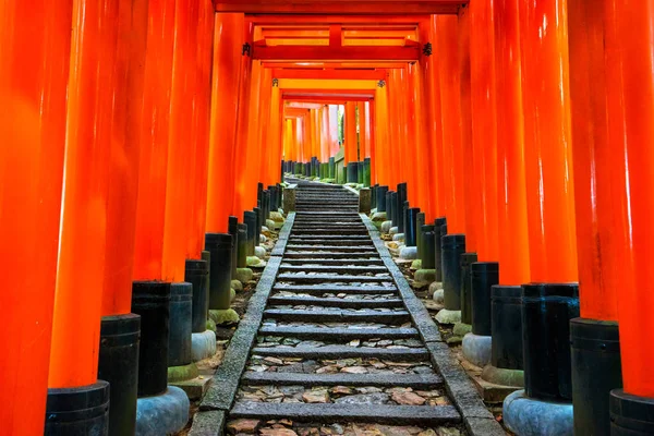
[[439,15],[436,19],[443,126],[441,171],[448,233],[465,233],[458,22],[459,17],[453,15]]

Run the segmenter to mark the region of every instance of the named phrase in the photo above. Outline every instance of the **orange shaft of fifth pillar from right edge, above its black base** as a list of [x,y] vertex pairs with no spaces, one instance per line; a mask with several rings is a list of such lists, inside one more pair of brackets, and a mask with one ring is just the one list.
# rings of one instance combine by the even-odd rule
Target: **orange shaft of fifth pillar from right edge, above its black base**
[[[497,262],[499,256],[497,218],[497,112],[495,84],[494,4],[489,0],[471,3],[470,60],[473,186],[469,217],[474,221],[479,262]],[[467,240],[468,243],[468,240]]]

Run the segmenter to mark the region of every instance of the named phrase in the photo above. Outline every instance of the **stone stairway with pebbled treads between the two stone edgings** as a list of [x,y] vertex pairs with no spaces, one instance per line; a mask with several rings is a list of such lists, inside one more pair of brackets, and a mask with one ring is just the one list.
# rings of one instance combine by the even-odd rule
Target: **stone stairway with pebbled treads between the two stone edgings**
[[296,210],[228,432],[251,419],[268,435],[353,434],[348,423],[465,434],[358,197],[302,183]]

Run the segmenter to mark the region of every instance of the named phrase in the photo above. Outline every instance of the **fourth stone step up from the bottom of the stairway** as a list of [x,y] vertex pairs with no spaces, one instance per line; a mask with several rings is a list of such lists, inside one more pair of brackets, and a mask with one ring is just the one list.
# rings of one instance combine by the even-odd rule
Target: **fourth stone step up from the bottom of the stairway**
[[413,339],[417,330],[413,327],[399,328],[341,328],[341,327],[272,327],[264,326],[259,336],[281,336],[304,340],[353,340],[353,339]]

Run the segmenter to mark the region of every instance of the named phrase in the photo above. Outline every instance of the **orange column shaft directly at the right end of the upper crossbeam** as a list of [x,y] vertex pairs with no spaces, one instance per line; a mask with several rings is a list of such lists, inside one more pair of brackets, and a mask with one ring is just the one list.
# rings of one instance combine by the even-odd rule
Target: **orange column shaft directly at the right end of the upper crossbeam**
[[[445,216],[443,119],[440,113],[440,75],[438,41],[436,31],[437,15],[431,15],[427,23],[421,25],[421,38],[432,44],[432,55],[423,53],[421,66],[424,77],[424,107],[426,109],[426,141],[432,156],[432,207],[435,218]],[[431,222],[431,221],[427,221]]]

